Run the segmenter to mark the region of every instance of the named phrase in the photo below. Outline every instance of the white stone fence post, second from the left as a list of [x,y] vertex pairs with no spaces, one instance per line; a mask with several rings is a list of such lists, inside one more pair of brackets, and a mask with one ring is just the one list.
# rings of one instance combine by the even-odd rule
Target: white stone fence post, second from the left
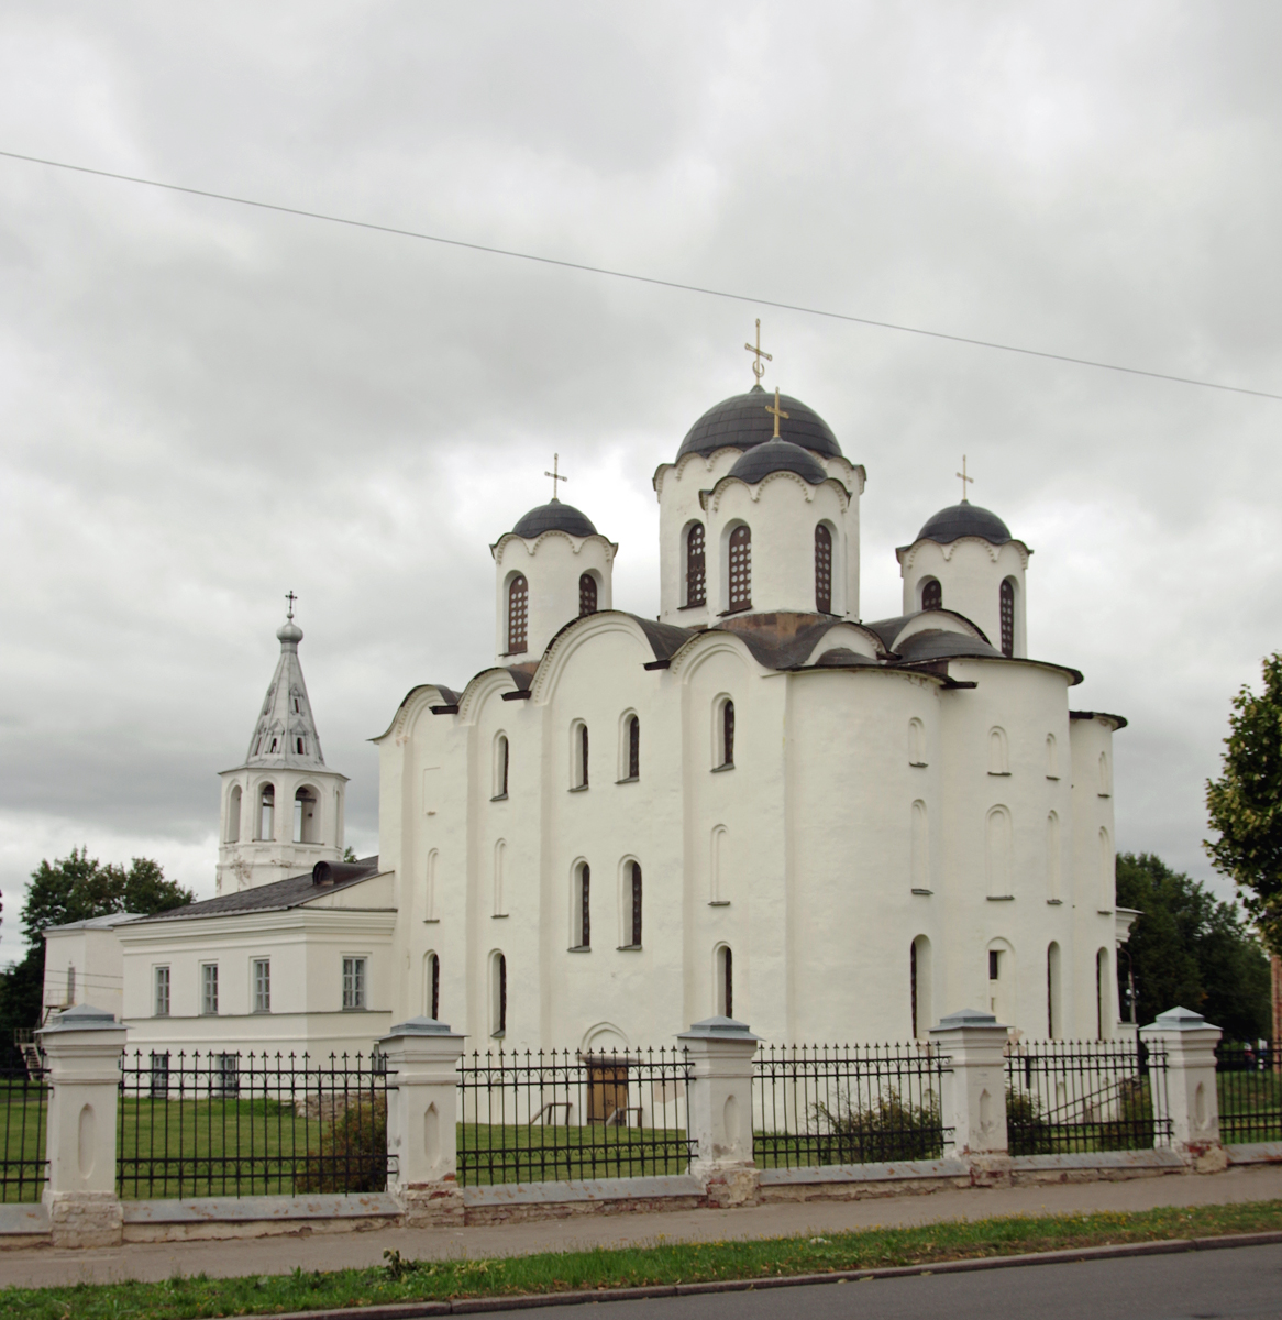
[[463,1036],[435,1018],[410,1018],[379,1049],[394,1074],[388,1078],[388,1191],[406,1226],[462,1225],[456,1123]]

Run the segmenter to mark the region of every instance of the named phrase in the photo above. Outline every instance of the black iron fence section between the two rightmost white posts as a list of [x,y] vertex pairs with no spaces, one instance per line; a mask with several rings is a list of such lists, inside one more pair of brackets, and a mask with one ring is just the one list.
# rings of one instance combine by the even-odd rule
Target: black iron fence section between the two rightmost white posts
[[1163,1146],[1166,1101],[1166,1051],[1138,1040],[1030,1040],[1006,1051],[1012,1155]]

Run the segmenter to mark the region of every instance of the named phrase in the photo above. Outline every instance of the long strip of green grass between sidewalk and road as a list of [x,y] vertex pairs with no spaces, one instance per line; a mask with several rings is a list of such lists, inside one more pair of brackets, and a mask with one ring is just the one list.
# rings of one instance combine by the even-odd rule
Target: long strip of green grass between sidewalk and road
[[1198,1205],[1134,1213],[952,1220],[906,1229],[748,1242],[673,1242],[650,1247],[549,1251],[492,1261],[404,1261],[386,1266],[243,1279],[174,1278],[164,1283],[78,1283],[0,1290],[0,1312],[22,1320],[189,1320],[326,1307],[530,1292],[628,1288],[719,1279],[779,1278],[975,1257],[1056,1251],[1120,1242],[1215,1237],[1282,1228],[1282,1201]]

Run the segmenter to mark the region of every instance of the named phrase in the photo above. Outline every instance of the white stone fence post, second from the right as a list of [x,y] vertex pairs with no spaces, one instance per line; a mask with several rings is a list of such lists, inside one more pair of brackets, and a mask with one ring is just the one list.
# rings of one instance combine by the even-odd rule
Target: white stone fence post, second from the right
[[951,1060],[943,1074],[943,1126],[952,1129],[944,1155],[969,1163],[976,1185],[1002,1180],[1009,1168],[1006,1140],[1008,1030],[991,1012],[963,1008],[940,1018],[930,1039]]

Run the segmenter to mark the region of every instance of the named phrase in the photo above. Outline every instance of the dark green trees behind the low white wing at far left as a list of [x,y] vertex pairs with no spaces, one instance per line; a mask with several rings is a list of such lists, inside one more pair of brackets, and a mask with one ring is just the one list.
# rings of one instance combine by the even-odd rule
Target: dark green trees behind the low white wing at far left
[[86,921],[112,912],[150,916],[194,903],[195,895],[175,880],[166,880],[158,862],[136,857],[128,867],[103,866],[88,849],[74,847],[70,857],[42,861],[32,871],[22,906],[26,956],[0,973],[0,1045],[8,1048],[13,1028],[40,1023],[45,985],[44,932],[51,925]]

